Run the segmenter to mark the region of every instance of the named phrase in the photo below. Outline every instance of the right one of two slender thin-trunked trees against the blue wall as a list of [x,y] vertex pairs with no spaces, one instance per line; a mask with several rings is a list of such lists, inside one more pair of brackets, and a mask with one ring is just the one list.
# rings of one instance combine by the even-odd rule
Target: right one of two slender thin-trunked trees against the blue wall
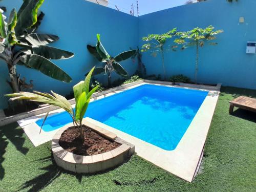
[[[208,26],[205,29],[197,27],[187,32],[177,33],[180,38],[175,39],[174,42],[183,45],[181,50],[184,50],[187,46],[196,46],[195,83],[197,83],[199,47],[203,47],[205,41],[216,39],[216,35],[222,32],[223,30],[214,31],[214,27]],[[211,42],[210,45],[217,45],[217,42]]]

